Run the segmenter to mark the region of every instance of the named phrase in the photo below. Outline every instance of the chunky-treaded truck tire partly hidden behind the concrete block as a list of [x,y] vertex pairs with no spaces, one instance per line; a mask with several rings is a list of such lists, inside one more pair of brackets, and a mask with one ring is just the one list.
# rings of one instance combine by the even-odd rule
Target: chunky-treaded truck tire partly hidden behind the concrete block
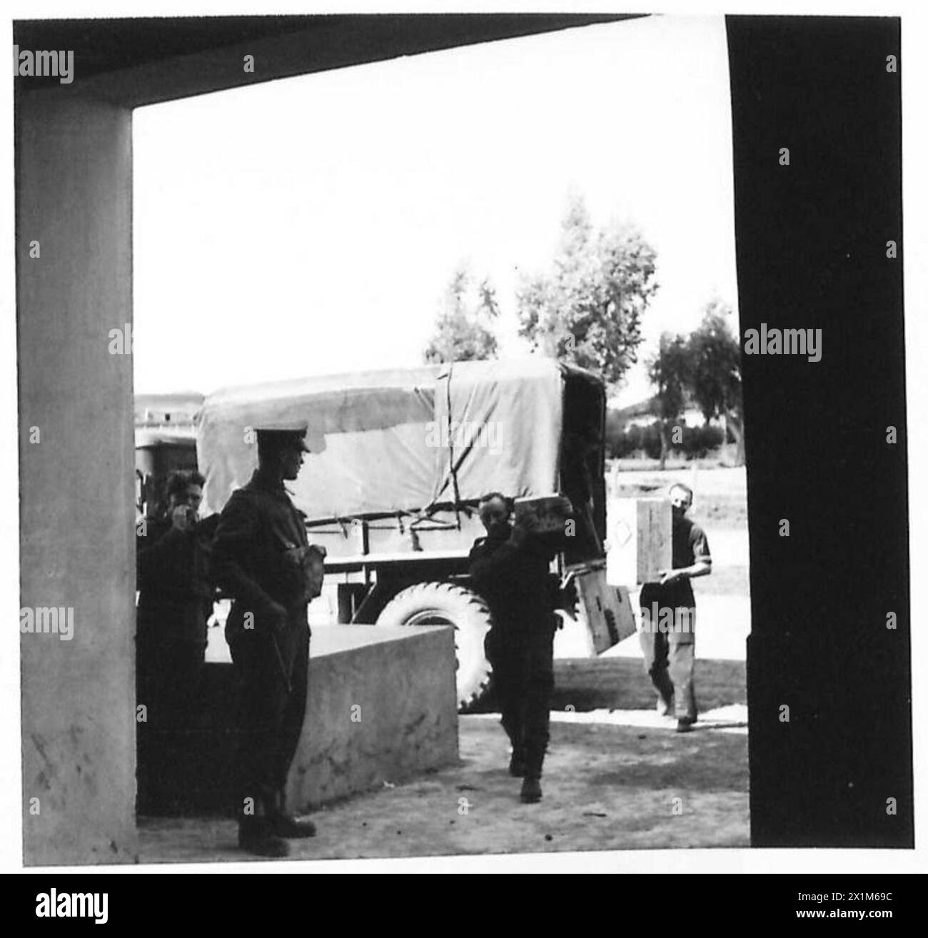
[[483,640],[493,620],[476,593],[453,583],[416,583],[390,599],[377,618],[378,626],[453,626],[457,652],[458,707],[466,710],[490,686],[493,669]]

